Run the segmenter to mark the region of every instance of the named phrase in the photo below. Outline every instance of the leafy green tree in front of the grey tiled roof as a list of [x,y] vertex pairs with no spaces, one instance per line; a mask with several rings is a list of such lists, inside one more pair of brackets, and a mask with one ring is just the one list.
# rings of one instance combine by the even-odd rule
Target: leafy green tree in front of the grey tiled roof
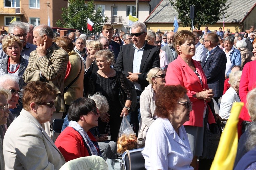
[[[190,6],[195,7],[193,25],[198,29],[202,25],[215,24],[219,19],[223,18],[230,3],[228,0],[170,0],[174,9],[178,12],[178,18],[184,27],[191,26]],[[229,15],[225,15],[228,17]]]

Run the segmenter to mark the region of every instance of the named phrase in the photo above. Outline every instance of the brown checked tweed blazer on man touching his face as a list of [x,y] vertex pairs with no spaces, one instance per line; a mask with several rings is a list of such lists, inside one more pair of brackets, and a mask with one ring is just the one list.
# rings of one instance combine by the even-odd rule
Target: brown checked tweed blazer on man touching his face
[[[57,90],[54,113],[65,112],[63,90],[68,61],[68,53],[54,43],[46,56],[38,57],[36,50],[32,51],[23,74],[25,83],[42,81]],[[41,72],[45,75],[43,79],[40,79]]]

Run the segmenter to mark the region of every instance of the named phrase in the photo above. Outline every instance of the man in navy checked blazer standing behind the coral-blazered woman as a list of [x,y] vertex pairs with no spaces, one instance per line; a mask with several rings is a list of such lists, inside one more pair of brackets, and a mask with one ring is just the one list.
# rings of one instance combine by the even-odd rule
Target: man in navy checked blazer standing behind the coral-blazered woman
[[223,94],[225,68],[227,58],[223,50],[218,46],[218,35],[208,33],[204,36],[204,46],[209,53],[203,59],[202,68],[207,78],[207,84],[213,90],[214,100],[218,103]]

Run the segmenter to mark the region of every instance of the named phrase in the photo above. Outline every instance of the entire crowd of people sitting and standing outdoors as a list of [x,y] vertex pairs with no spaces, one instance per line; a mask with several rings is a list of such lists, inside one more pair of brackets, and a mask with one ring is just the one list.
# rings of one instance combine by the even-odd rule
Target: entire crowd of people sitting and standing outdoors
[[[91,155],[116,159],[123,116],[144,147],[146,169],[209,169],[204,131],[228,119],[239,101],[246,107],[237,169],[256,167],[255,159],[239,161],[255,153],[254,34],[232,37],[208,27],[202,35],[162,34],[135,22],[131,33],[105,24],[101,34],[62,37],[47,25],[13,22],[0,49],[0,169],[60,169]],[[53,135],[60,118],[62,132]]]

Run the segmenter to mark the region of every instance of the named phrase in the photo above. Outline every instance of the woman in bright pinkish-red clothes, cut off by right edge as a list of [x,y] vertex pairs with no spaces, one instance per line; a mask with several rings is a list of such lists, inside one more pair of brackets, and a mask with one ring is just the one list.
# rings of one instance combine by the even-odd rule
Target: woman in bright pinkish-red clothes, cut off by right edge
[[[253,54],[256,56],[256,39],[253,41]],[[238,121],[238,137],[242,135],[242,122],[250,121],[250,116],[248,114],[248,111],[246,109],[246,96],[249,91],[256,88],[256,61],[251,61],[245,64],[240,80],[240,86],[239,86],[239,96],[241,98],[241,102],[244,102],[244,107],[242,108],[242,111],[239,115],[239,121]]]

